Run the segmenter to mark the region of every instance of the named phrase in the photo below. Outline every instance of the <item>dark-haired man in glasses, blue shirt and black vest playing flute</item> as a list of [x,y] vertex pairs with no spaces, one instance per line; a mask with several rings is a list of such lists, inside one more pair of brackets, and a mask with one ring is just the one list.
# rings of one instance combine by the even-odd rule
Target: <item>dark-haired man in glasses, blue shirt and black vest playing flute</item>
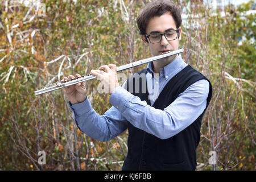
[[[179,49],[181,15],[174,3],[147,4],[137,24],[152,56]],[[212,86],[207,78],[187,65],[180,55],[149,63],[123,87],[119,86],[113,64],[91,73],[109,86],[109,101],[113,106],[98,115],[86,98],[84,83],[65,88],[69,106],[79,129],[91,138],[108,141],[128,128],[128,154],[123,170],[196,169],[201,119],[212,97]],[[146,78],[141,81],[143,74]],[[142,90],[143,80],[146,80],[146,93],[127,91],[131,86],[134,88],[135,83],[139,83],[137,86]],[[158,97],[149,99],[155,86]]]

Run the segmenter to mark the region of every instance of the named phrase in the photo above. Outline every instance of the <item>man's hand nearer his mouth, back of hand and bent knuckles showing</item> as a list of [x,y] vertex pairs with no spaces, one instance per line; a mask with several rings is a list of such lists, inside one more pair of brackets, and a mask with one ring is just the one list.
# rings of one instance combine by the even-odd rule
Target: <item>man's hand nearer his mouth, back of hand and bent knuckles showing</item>
[[90,71],[102,82],[104,87],[108,88],[108,93],[112,94],[119,86],[117,78],[117,66],[115,64],[103,65],[97,70]]

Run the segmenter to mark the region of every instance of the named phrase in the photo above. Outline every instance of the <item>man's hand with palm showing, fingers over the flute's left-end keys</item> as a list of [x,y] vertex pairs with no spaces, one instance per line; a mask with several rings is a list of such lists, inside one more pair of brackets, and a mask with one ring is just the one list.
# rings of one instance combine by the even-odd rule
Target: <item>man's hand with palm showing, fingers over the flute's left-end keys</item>
[[[81,77],[81,75],[76,74],[76,77]],[[69,78],[75,78],[73,75],[69,75]],[[63,80],[68,80],[67,77],[64,77]],[[85,82],[80,82],[76,85],[67,86],[64,88],[68,100],[71,104],[77,104],[86,100],[86,88]]]

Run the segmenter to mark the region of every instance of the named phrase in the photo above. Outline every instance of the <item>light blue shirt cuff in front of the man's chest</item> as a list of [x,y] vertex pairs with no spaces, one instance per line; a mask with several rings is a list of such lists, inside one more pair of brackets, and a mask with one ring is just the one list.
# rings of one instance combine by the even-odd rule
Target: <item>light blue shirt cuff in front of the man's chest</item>
[[126,107],[126,102],[129,101],[131,97],[134,97],[134,95],[122,88],[122,86],[118,86],[111,94],[109,102],[122,113]]

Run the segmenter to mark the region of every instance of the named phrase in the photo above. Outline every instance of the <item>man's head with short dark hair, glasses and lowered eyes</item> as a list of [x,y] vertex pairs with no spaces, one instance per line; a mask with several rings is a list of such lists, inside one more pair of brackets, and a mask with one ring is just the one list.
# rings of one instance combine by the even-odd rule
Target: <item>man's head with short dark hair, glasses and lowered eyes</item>
[[[164,53],[164,51],[175,51],[179,49],[179,40],[181,40],[181,22],[180,8],[170,1],[153,1],[148,3],[144,6],[142,13],[137,18],[137,24],[142,40],[146,46],[150,48],[153,56],[160,55],[161,53]],[[165,34],[165,36],[160,35],[159,42],[152,39],[155,37],[152,34],[163,34],[170,30],[179,31],[172,31],[170,34]],[[174,40],[172,40],[171,35],[176,36]],[[170,63],[175,58],[176,55],[168,57],[166,59],[166,64]]]

